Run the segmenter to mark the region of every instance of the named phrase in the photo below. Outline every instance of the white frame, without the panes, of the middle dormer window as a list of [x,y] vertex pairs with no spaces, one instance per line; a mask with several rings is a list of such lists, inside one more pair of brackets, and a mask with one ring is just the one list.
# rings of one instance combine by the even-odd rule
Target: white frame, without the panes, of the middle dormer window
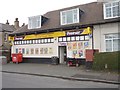
[[[77,21],[76,21],[76,22],[74,21],[74,14],[73,14],[73,15],[72,15],[72,16],[73,16],[73,17],[72,17],[72,18],[73,18],[73,22],[72,22],[72,23],[67,23],[66,13],[69,12],[69,11],[72,11],[72,12],[73,12],[74,10],[77,10]],[[63,16],[62,16],[63,13],[65,13],[65,22],[64,22],[64,23],[63,23]],[[80,16],[80,15],[79,15],[79,8],[61,11],[61,12],[60,12],[60,24],[61,24],[61,25],[67,25],[67,24],[79,23],[79,19],[80,19],[79,16]]]

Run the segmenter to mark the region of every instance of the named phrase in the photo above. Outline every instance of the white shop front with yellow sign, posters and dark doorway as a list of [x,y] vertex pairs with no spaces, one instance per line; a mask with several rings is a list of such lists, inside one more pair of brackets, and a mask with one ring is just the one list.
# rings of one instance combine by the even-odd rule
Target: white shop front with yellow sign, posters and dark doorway
[[11,54],[22,53],[23,62],[59,63],[68,59],[85,59],[85,50],[92,48],[91,28],[9,37]]

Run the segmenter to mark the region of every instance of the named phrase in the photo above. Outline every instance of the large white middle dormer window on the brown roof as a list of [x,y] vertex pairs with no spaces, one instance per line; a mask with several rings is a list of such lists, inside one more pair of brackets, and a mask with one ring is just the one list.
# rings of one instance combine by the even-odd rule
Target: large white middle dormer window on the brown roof
[[79,23],[79,8],[61,11],[60,21],[61,25]]

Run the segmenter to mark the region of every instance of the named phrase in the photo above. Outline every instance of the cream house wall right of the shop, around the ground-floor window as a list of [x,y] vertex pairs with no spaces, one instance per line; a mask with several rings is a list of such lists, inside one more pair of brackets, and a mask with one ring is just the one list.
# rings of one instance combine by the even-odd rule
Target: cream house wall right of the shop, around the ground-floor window
[[108,23],[95,25],[93,29],[94,49],[99,49],[100,52],[106,52],[105,34],[120,33],[118,23]]

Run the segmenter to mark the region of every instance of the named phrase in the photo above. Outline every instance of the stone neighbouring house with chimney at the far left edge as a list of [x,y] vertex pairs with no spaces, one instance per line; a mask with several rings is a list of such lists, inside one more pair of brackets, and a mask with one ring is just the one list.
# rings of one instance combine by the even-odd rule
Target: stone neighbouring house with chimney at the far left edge
[[6,24],[0,23],[0,56],[4,55],[10,57],[10,45],[8,41],[8,35],[15,30],[15,27],[13,25],[9,25],[8,21],[6,22]]

